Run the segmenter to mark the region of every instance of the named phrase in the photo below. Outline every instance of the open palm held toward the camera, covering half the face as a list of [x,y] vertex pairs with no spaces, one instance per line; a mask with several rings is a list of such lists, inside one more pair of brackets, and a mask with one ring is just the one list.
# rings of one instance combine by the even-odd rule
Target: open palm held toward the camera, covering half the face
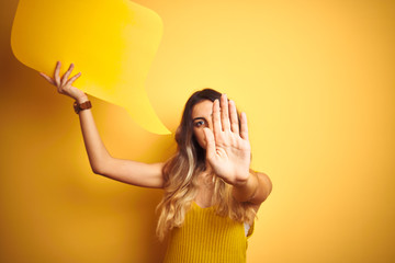
[[[219,108],[221,107],[221,108]],[[204,128],[206,160],[214,173],[225,182],[239,185],[249,176],[251,147],[248,140],[247,116],[240,115],[240,128],[234,101],[225,94],[213,104],[213,130]]]

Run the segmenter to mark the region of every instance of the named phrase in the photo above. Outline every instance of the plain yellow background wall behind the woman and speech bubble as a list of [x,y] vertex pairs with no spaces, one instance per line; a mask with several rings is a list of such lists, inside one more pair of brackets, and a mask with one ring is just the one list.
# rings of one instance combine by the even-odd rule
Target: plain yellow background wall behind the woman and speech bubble
[[[167,127],[205,87],[247,113],[253,168],[273,182],[248,262],[395,261],[395,2],[136,2],[165,23],[146,88]],[[160,261],[161,192],[92,174],[72,101],[11,53],[16,4],[0,7],[0,261]],[[113,156],[173,150],[91,100]]]

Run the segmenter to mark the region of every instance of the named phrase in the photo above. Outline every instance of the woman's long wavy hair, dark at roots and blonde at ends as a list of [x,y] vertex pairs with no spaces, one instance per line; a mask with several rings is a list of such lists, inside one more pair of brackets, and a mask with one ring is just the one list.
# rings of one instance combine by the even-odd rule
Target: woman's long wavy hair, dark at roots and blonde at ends
[[[177,152],[165,163],[162,170],[165,193],[157,207],[159,220],[156,230],[159,240],[163,240],[172,228],[182,226],[198,193],[198,175],[205,170],[205,150],[193,135],[192,108],[201,101],[214,102],[219,98],[219,92],[204,89],[193,93],[185,104],[181,124],[176,132]],[[214,184],[212,204],[216,214],[252,225],[256,217],[252,206],[234,199],[232,185],[215,174],[211,178]]]

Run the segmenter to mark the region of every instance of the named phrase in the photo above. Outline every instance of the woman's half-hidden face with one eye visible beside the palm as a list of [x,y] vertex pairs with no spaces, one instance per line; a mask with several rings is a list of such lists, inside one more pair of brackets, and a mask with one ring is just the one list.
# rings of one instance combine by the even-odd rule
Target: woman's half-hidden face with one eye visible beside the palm
[[206,140],[203,128],[213,129],[213,102],[208,100],[196,103],[192,108],[193,134],[199,145],[205,149]]

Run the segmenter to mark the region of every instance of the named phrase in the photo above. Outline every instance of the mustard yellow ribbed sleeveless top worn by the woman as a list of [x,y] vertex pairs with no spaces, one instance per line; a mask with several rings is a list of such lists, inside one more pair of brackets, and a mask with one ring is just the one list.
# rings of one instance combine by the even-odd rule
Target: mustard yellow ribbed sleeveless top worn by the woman
[[[251,227],[248,237],[252,233]],[[184,225],[169,237],[165,263],[245,263],[247,237],[244,224],[215,214],[214,207],[192,203]]]

